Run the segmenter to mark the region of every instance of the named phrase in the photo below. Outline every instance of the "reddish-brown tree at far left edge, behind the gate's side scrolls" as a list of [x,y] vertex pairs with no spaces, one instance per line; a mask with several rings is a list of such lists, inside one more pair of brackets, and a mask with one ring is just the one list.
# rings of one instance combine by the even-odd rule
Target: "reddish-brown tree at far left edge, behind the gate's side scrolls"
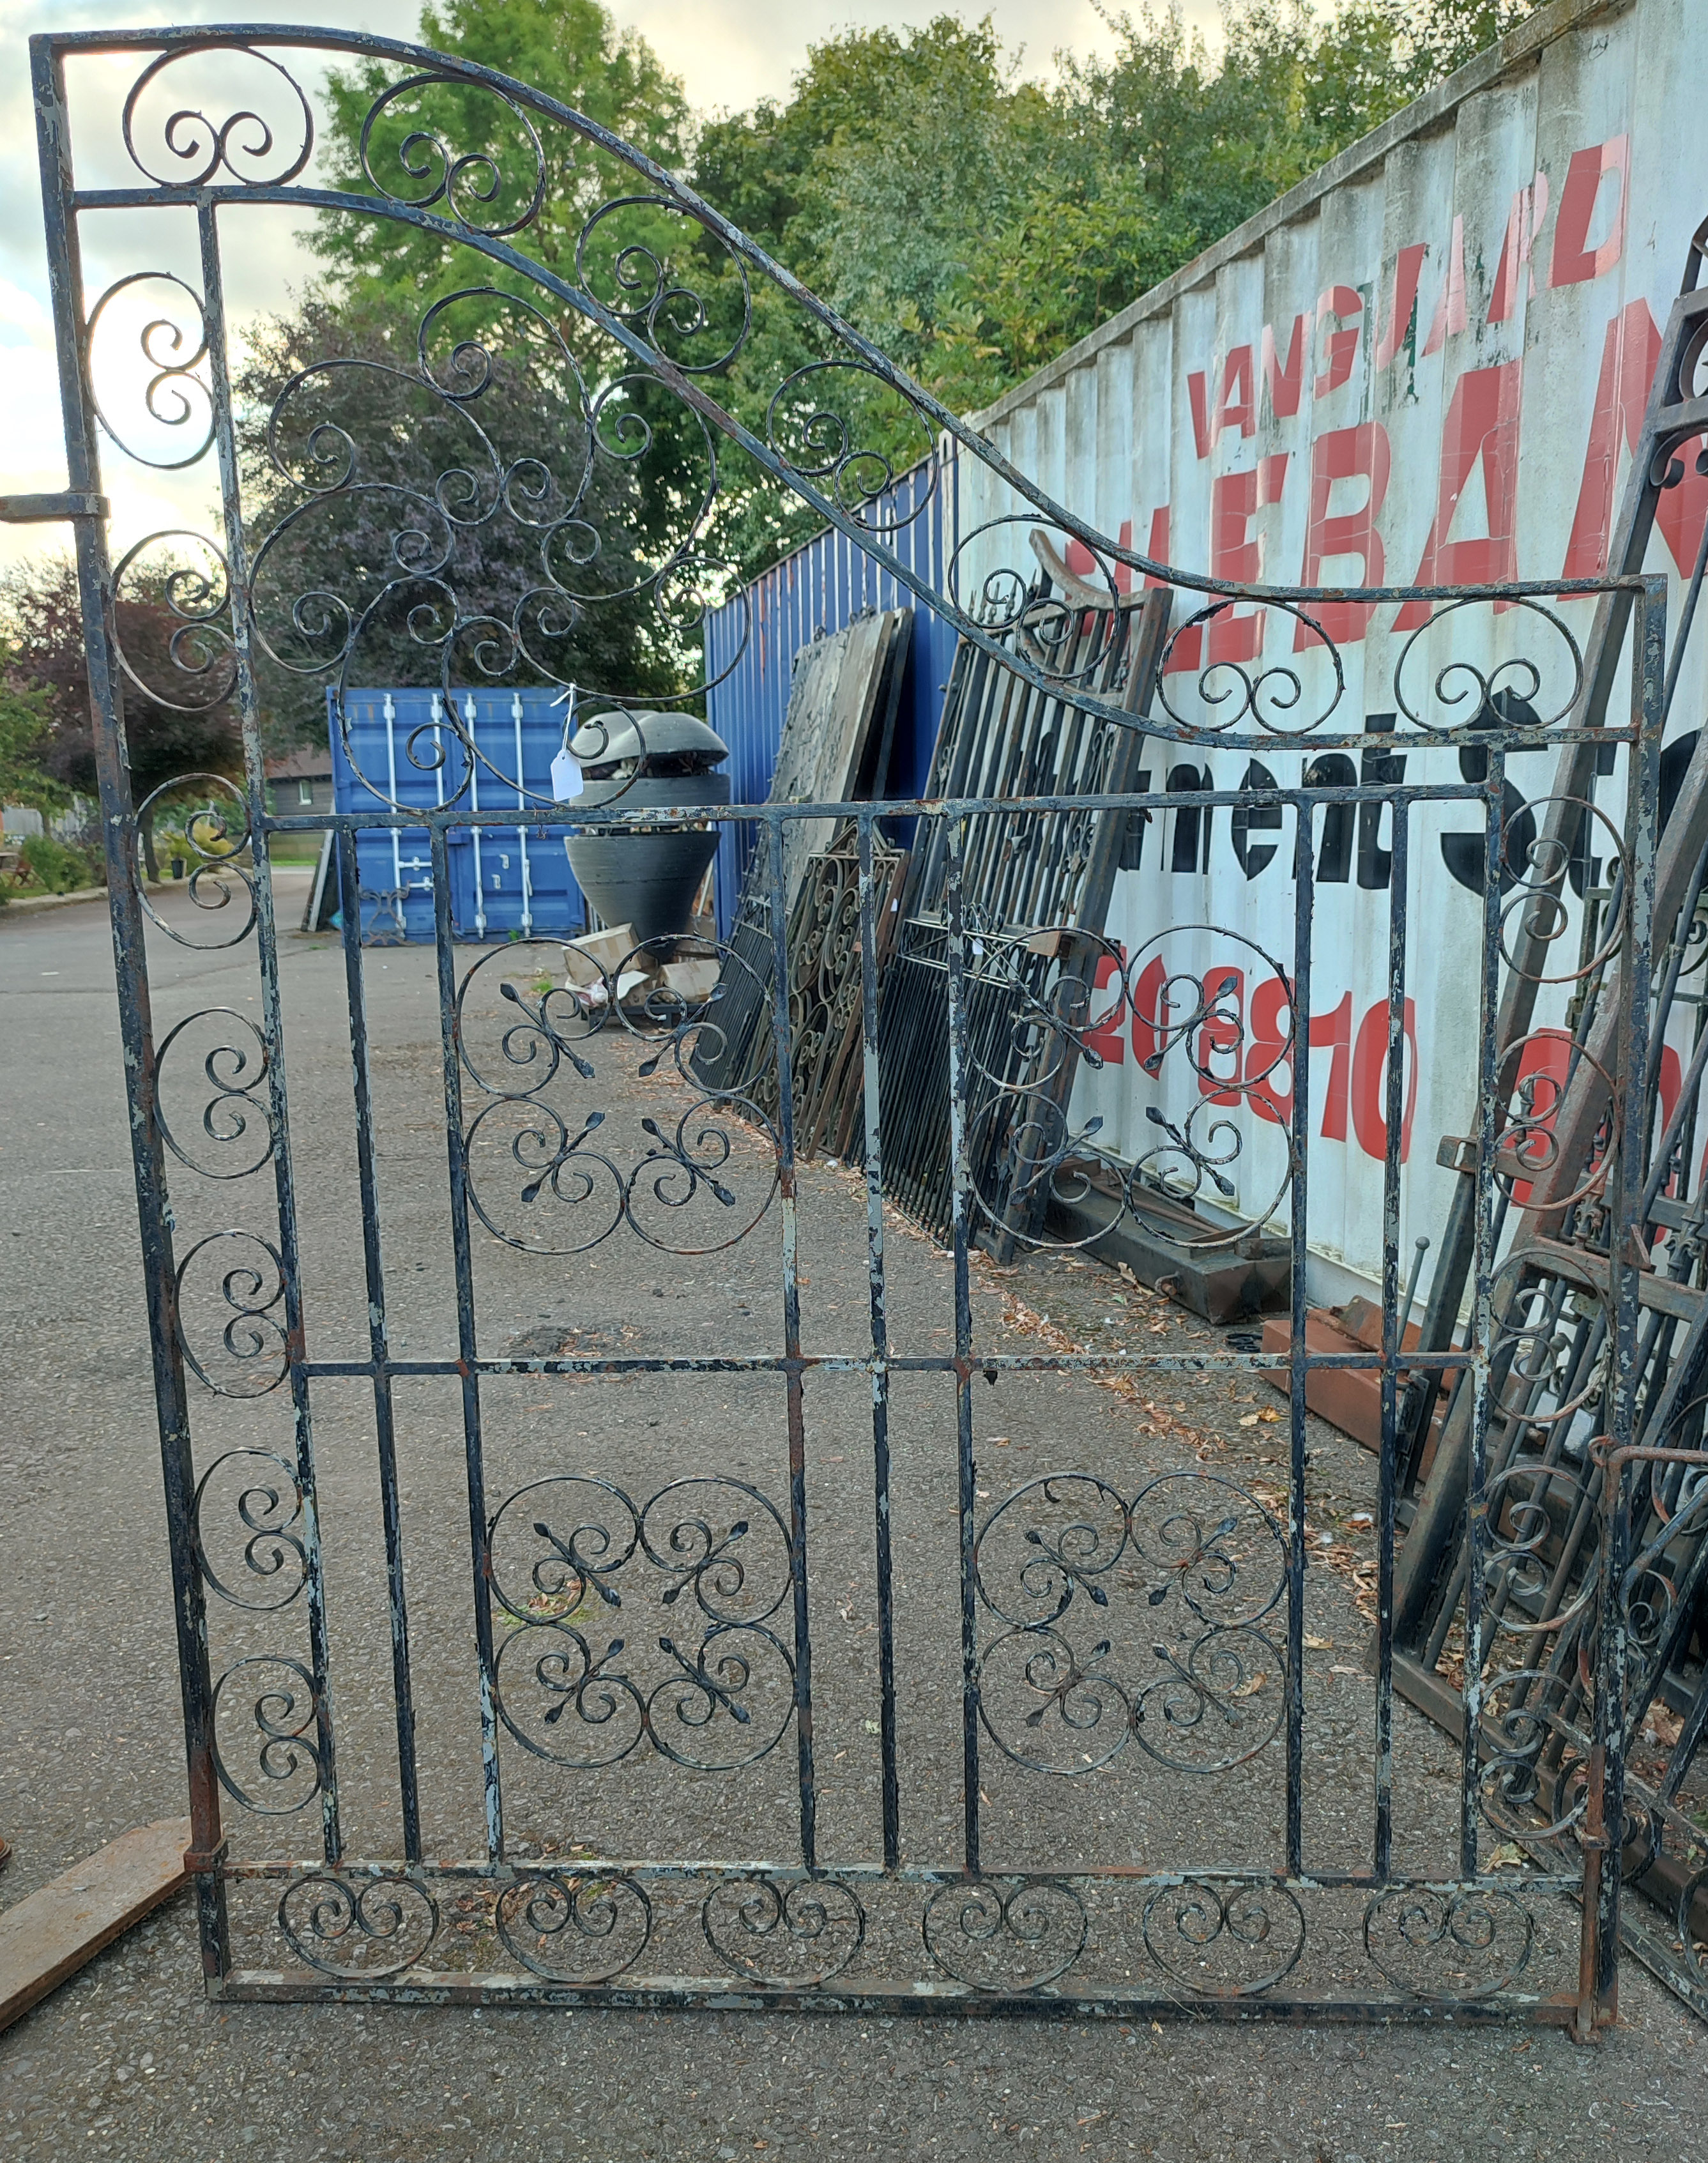
[[[154,807],[147,805],[156,789],[190,774],[242,772],[229,649],[218,634],[208,636],[199,621],[208,597],[199,575],[177,565],[128,584],[115,601],[115,629],[125,660],[130,787],[132,802],[143,811],[149,878],[158,878]],[[13,569],[0,586],[0,616],[13,647],[9,692],[37,701],[45,712],[48,727],[37,753],[41,770],[58,792],[97,796],[76,565],[67,556],[52,556]]]

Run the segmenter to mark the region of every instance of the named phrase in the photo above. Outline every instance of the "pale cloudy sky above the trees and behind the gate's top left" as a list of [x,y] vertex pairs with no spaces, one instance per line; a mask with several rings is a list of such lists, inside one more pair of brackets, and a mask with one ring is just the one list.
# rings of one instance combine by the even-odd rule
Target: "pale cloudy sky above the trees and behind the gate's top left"
[[[690,99],[700,110],[739,108],[755,97],[778,95],[806,58],[806,45],[850,24],[928,22],[951,0],[618,0],[618,22],[649,37],[668,67],[677,69]],[[999,35],[1010,48],[1025,48],[1027,65],[1049,69],[1059,45],[1077,52],[1109,50],[1113,39],[1090,0],[969,0],[966,15],[988,4]],[[1187,0],[1187,19],[1215,22],[1215,0]],[[342,22],[389,37],[411,37],[419,0],[264,0],[244,11],[236,0],[0,0],[0,411],[6,415],[0,441],[0,493],[65,487],[65,450],[48,322],[48,275],[41,240],[41,197],[37,177],[35,123],[30,115],[26,39],[32,30],[143,28],[188,22]],[[89,63],[74,84],[78,97],[93,99],[110,125],[117,97],[136,74],[136,63],[108,58]],[[313,69],[305,69],[305,80]],[[95,130],[89,130],[93,136]],[[106,177],[106,175],[102,175]],[[112,175],[117,180],[117,175]],[[188,221],[173,221],[175,227]],[[301,218],[277,212],[249,214],[251,244],[229,266],[231,309],[240,327],[244,311],[277,305],[303,273],[303,255],[292,240]],[[141,214],[110,214],[84,221],[84,260],[91,292],[143,266],[164,264],[195,277],[186,260],[184,231],[158,223],[143,231]],[[121,231],[123,227],[123,231]],[[147,320],[143,301],[160,301],[158,290],[136,294],[134,329]],[[162,437],[162,441],[166,441]],[[205,465],[205,461],[203,461]],[[197,474],[171,476],[132,465],[104,446],[104,478],[112,500],[112,547],[123,552],[134,539],[160,526],[199,523],[212,510]],[[0,528],[0,560],[58,545],[52,528]]]

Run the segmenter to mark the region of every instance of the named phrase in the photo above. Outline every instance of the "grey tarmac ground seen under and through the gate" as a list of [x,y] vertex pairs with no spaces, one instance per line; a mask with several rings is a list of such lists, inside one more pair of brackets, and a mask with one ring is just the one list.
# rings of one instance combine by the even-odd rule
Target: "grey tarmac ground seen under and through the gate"
[[[294,874],[281,885],[290,893]],[[208,1006],[255,1010],[249,947],[184,954],[160,941],[154,963],[162,1027]],[[482,988],[502,973],[525,982],[528,956],[495,956],[482,971]],[[283,982],[311,1345],[318,1356],[361,1356],[365,1302],[335,943],[288,934]],[[0,997],[9,1114],[0,1133],[9,1410],[0,1430],[0,1659],[13,1670],[0,1828],[17,1849],[0,1895],[15,1901],[128,1826],[177,1815],[182,1746],[104,911],[82,906],[0,921]],[[393,1345],[404,1354],[441,1352],[454,1332],[430,958],[413,950],[374,952],[370,999]],[[482,1043],[495,1051],[499,1019],[512,1014],[495,995],[484,1004],[471,997],[476,1058]],[[197,1162],[233,1168],[242,1140],[216,1142],[190,1116],[199,1116],[208,1094],[192,1077],[199,1079],[210,1045],[212,1036],[195,1032],[179,1040],[166,1112],[173,1118],[179,1107],[175,1133]],[[601,1038],[595,1064],[610,1107],[610,1140],[601,1142],[627,1166],[646,1146],[638,1118],[649,1112],[668,1127],[690,1099],[670,1092],[668,1069],[638,1077],[633,1058],[623,1064],[612,1053],[614,1038]],[[623,1069],[618,1077],[612,1064]],[[569,1094],[556,1101],[569,1114]],[[489,1127],[486,1140],[493,1138]],[[517,1216],[517,1179],[512,1172],[506,1183],[506,1166],[515,1159],[504,1146],[484,1157],[478,1151],[478,1187],[497,1222],[525,1224],[538,1237],[536,1226],[547,1218],[538,1205]],[[739,1200],[752,1192],[752,1175],[755,1166],[744,1166],[737,1153],[726,1179],[737,1194],[735,1218],[722,1205],[705,1209],[711,1218],[722,1211],[720,1233],[733,1220],[746,1222]],[[179,1255],[208,1233],[264,1226],[262,1198],[251,1192],[262,1185],[264,1177],[212,1187],[182,1175],[173,1187]],[[677,1246],[696,1244],[698,1233],[681,1235],[692,1211],[666,1213],[666,1203],[668,1194],[651,1203],[642,1194],[644,1220],[655,1233],[668,1226]],[[560,1198],[551,1222],[584,1222],[586,1207],[577,1216]],[[858,1343],[863,1237],[858,1185],[835,1168],[809,1168],[802,1179],[809,1350]],[[210,1261],[233,1252],[223,1244],[210,1250]],[[201,1289],[190,1278],[192,1330],[214,1315],[208,1285],[216,1276],[212,1268]],[[646,1343],[709,1352],[778,1343],[776,1207],[737,1246],[692,1259],[659,1255],[627,1229],[582,1259],[523,1257],[482,1237],[476,1276],[482,1350],[549,1356],[558,1348]],[[949,1272],[943,1257],[899,1224],[891,1235],[891,1280],[897,1350],[945,1350]],[[1217,1341],[1100,1265],[1062,1257],[1012,1274],[979,1268],[975,1311],[982,1345],[1206,1350]],[[216,1358],[216,1332],[205,1341]],[[253,1363],[231,1369],[251,1371]],[[709,1467],[778,1501],[785,1495],[780,1391],[765,1380],[612,1384],[530,1376],[482,1395],[493,1495],[566,1471],[599,1471],[644,1501],[683,1471]],[[995,1391],[977,1384],[986,1510],[995,1514],[1010,1490],[1068,1467],[1096,1471],[1126,1499],[1183,1467],[1278,1497],[1280,1430],[1263,1419],[1273,1402],[1245,1378],[1211,1382],[1165,1371],[1148,1376],[1135,1397],[1057,1376],[1005,1378]],[[359,1380],[324,1382],[316,1386],[313,1410],[346,1845],[350,1854],[385,1856],[398,1852],[398,1804],[372,1393]],[[199,1417],[203,1464],[221,1449],[281,1449],[290,1436],[288,1406],[275,1397],[203,1402]],[[897,1382],[902,1832],[908,1858],[919,1862],[951,1862],[960,1823],[951,1417],[945,1382]],[[480,1767],[454,1384],[400,1386],[398,1449],[426,1847],[473,1854]],[[811,1380],[819,1841],[826,1856],[843,1862],[876,1854],[867,1467],[860,1380]],[[1327,1534],[1317,1549],[1323,1560],[1308,1573],[1306,1609],[1306,1847],[1315,1867],[1358,1865],[1369,1845],[1371,1685],[1362,1676],[1364,1627],[1356,1601],[1358,1573],[1371,1555],[1360,1516],[1371,1503],[1371,1458],[1315,1428],[1312,1542]],[[1018,1538],[1018,1512],[1005,1523]],[[757,1516],[755,1525],[763,1531]],[[997,1529],[988,1542],[992,1575],[1001,1568],[1001,1538]],[[1254,1536],[1250,1553],[1243,1551],[1252,1568],[1260,1553]],[[240,1549],[231,1547],[229,1557],[240,1566]],[[750,1570],[755,1592],[761,1577]],[[629,1601],[623,1627],[633,1646],[657,1642],[653,1622],[679,1629],[677,1609],[644,1607],[629,1579],[623,1583]],[[651,1588],[653,1596],[662,1583]],[[1113,1607],[1120,1611],[1122,1603]],[[301,1629],[294,1609],[285,1620]],[[301,1657],[301,1640],[279,1618],[238,1618],[233,1627],[221,1614],[214,1627],[216,1666],[281,1650]],[[1142,1640],[1157,1631],[1150,1622],[1137,1635],[1116,1620],[1098,1627],[1113,1640],[1109,1666],[1137,1674],[1142,1687]],[[649,1659],[651,1687],[664,1668]],[[1278,1676],[1267,1676],[1256,1687],[1254,1720],[1263,1720],[1265,1691],[1276,1685]],[[761,1678],[755,1702],[763,1700],[763,1687]],[[233,1733],[233,1763],[240,1741]],[[1051,1748],[1059,1743],[1055,1733]],[[1446,1869],[1453,1752],[1399,1709],[1397,1759],[1399,1856],[1416,1869]],[[791,1730],[746,1774],[681,1771],[636,1752],[588,1782],[508,1746],[504,1769],[519,1856],[562,1852],[566,1826],[597,1852],[787,1856],[793,1847]],[[1276,1854],[1278,1743],[1237,1771],[1172,1774],[1126,1752],[1072,1782],[1042,1780],[986,1748],[982,1784],[988,1862],[997,1869],[1109,1858],[1150,1867],[1267,1865]],[[303,1819],[275,1821],[259,1839],[240,1813],[231,1819],[240,1854],[305,1852]],[[242,1901],[238,1908],[244,1958],[246,1910]],[[1098,1927],[1105,1923],[1100,1958],[1113,1962],[1107,1973],[1118,1977],[1133,1919],[1124,1925],[1120,1916],[1103,1919]],[[1554,1970],[1570,1964],[1570,1916],[1542,1919],[1537,1966],[1548,1970],[1537,1973],[1542,1988],[1559,1988]],[[873,1951],[880,1966],[886,1942],[880,1927]],[[251,1958],[264,1958],[259,1940]],[[906,1962],[904,1940],[893,1940],[891,1958]],[[1345,1936],[1336,1940],[1332,1929],[1310,1958],[1319,1962],[1304,1975],[1312,1988],[1334,1988],[1351,1975]],[[1369,1979],[1369,1968],[1362,1975]],[[1036,2157],[1351,2163],[1565,2157],[1593,2144],[1609,2157],[1671,2159],[1704,2152],[1702,2038],[1699,2025],[1634,1966],[1626,1968],[1622,2027],[1593,2051],[1576,2051],[1554,2033],[1464,2027],[1347,2031],[1202,2020],[995,2027],[780,2012],[216,2009],[201,1999],[192,1916],[177,1901],[0,2038],[0,2157],[733,2163],[765,2150],[973,2157],[1014,2144]]]

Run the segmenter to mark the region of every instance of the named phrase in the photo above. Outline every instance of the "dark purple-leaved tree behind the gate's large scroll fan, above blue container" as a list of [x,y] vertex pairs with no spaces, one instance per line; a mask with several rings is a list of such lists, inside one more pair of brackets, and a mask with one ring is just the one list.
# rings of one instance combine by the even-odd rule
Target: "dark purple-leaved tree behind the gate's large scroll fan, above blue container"
[[324,742],[339,679],[681,688],[692,573],[642,506],[675,502],[681,543],[705,476],[649,433],[649,385],[588,400],[523,303],[320,292],[257,329],[236,394],[268,742]]

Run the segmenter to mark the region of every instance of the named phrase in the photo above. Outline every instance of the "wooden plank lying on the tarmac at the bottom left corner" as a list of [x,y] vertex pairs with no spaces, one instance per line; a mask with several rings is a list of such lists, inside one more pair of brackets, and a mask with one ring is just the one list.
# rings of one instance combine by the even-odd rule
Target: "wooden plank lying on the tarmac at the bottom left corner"
[[188,1817],[138,1826],[0,1914],[0,2029],[177,1893],[188,1843]]

